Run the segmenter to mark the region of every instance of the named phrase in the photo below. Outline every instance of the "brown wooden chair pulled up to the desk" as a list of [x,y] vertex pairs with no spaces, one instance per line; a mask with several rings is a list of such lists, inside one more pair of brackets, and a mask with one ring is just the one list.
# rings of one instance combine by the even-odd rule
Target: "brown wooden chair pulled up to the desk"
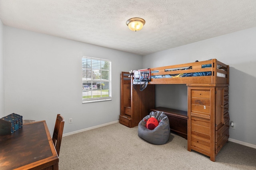
[[60,154],[60,144],[61,144],[61,139],[63,134],[63,128],[64,128],[64,118],[60,114],[58,114],[56,118],[54,132],[52,135],[52,141],[58,155]]

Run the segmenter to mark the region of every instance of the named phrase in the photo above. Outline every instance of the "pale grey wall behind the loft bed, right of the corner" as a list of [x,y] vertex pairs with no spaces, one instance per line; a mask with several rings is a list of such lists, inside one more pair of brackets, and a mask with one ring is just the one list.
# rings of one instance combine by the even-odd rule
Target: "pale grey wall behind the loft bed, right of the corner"
[[[256,27],[143,56],[142,68],[208,59],[230,66],[229,113],[230,121],[235,123],[235,129],[229,130],[230,138],[256,145]],[[156,106],[187,110],[186,94],[182,92],[187,89],[182,85],[178,90],[179,86],[157,85]],[[158,94],[167,90],[169,96]]]

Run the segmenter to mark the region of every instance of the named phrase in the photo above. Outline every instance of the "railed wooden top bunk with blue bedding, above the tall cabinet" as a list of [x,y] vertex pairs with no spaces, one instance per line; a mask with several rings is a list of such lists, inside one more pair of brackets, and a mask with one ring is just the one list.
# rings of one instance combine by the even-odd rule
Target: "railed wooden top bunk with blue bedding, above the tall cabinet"
[[229,66],[217,59],[150,70],[151,81],[148,84],[229,84]]

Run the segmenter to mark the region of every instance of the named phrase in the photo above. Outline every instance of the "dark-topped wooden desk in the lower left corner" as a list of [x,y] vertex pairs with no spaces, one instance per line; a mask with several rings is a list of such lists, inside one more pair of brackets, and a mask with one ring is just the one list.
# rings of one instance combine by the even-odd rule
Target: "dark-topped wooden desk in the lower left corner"
[[28,123],[10,135],[0,136],[1,170],[58,170],[58,162],[45,121]]

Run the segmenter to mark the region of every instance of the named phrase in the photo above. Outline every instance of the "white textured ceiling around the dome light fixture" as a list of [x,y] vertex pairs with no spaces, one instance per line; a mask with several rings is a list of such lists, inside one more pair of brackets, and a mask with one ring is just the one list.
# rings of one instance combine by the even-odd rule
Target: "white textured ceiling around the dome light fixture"
[[[142,30],[126,20],[146,20]],[[4,25],[138,55],[256,27],[256,0],[0,0]]]

